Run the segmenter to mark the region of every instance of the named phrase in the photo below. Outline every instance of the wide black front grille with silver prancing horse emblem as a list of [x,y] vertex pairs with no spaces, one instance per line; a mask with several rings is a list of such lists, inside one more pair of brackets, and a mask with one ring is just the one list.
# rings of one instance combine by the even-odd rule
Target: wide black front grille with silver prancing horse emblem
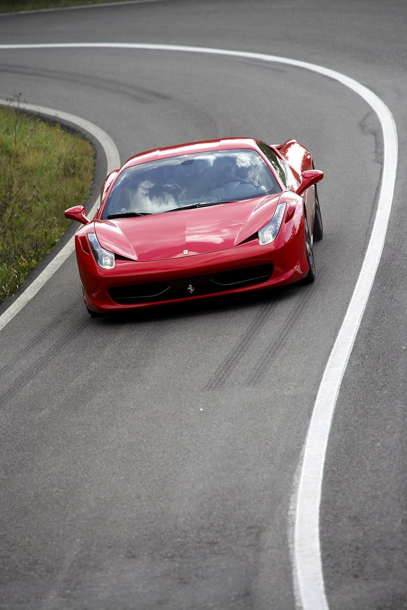
[[272,273],[273,265],[258,265],[192,278],[120,286],[110,288],[107,292],[113,301],[120,304],[159,303],[262,284],[270,279]]

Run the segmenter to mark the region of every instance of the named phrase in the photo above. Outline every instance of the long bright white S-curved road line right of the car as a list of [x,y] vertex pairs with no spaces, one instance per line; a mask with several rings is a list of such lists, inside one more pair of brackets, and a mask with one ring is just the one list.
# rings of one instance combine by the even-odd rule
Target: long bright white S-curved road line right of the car
[[372,289],[386,237],[392,206],[397,170],[397,129],[386,104],[367,87],[345,74],[308,62],[262,53],[228,51],[205,47],[180,45],[150,45],[139,43],[60,43],[50,45],[0,45],[0,49],[41,48],[115,48],[149,49],[156,51],[180,51],[206,53],[228,57],[245,57],[265,62],[297,66],[328,76],[355,91],[376,113],[383,131],[384,154],[380,196],[372,235],[356,282],[347,313],[334,343],[315,400],[304,445],[304,457],[298,483],[297,509],[294,526],[294,587],[298,586],[299,603],[303,610],[328,610],[323,583],[319,539],[319,512],[322,492],[323,467],[331,421],[340,384],[355,342],[362,315]]

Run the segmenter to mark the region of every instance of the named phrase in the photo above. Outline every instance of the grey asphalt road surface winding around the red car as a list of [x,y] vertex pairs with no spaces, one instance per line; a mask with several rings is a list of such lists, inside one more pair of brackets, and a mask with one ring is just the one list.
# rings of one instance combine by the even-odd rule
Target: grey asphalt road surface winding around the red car
[[[394,115],[394,203],[324,470],[330,610],[407,608],[406,26],[406,2],[376,0],[0,16],[2,44],[170,43],[317,63]],[[295,137],[325,171],[325,235],[314,285],[125,318],[88,316],[72,255],[2,329],[0,608],[294,609],[295,473],[372,230],[378,118],[300,68],[181,52],[1,50],[0,97],[20,91],[103,127],[122,161],[205,138]],[[97,161],[95,193],[101,150]]]

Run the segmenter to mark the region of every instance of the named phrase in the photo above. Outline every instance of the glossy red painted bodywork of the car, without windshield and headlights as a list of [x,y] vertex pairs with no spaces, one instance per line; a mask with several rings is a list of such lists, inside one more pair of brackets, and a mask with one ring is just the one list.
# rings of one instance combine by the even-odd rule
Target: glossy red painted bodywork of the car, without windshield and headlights
[[[165,157],[229,148],[256,150],[272,170],[281,186],[281,193],[144,217],[102,218],[104,204],[124,169]],[[211,140],[144,152],[129,159],[120,170],[109,174],[101,188],[101,205],[95,218],[81,226],[75,236],[77,264],[88,309],[103,313],[178,303],[265,289],[304,278],[309,271],[304,212],[312,233],[314,187],[309,187],[302,196],[296,191],[301,184],[303,171],[312,168],[311,154],[295,140],[270,148],[287,165],[285,185],[259,149],[258,142],[251,138]],[[276,239],[268,245],[260,245],[257,232],[271,220],[277,204],[282,202],[287,205]],[[95,233],[99,244],[115,253],[113,268],[101,268],[96,263],[87,239],[89,233]],[[241,285],[239,281],[233,285],[228,285],[227,281],[222,283],[225,274],[231,273],[233,276],[243,270],[244,275],[244,270],[252,268],[254,274],[257,269],[261,274],[266,267],[272,271],[264,281],[249,285],[247,281],[240,282]],[[206,283],[200,293],[199,289],[195,290],[195,285],[200,285],[201,281]],[[176,285],[175,292],[168,299],[164,286],[166,282]],[[212,286],[211,282],[216,284],[214,292],[207,289]],[[115,296],[126,288],[137,291],[138,286],[147,292],[150,285],[151,290],[153,287],[159,290],[161,284],[164,289],[159,296],[151,296],[140,302],[136,299],[125,303]]]

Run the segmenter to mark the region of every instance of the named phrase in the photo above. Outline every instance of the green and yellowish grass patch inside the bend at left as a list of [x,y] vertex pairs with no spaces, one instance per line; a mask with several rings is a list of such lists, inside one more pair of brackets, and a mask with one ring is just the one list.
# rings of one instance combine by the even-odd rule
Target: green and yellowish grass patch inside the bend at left
[[59,241],[67,207],[84,204],[95,151],[78,134],[0,109],[0,303]]

